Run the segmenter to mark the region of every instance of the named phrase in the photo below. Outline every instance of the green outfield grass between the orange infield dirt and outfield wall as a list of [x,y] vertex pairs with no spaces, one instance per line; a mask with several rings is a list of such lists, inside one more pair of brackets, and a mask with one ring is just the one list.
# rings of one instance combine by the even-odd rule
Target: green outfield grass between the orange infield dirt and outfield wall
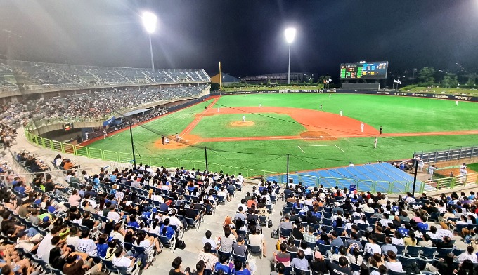
[[[478,104],[428,98],[350,94],[227,95],[215,107],[247,106],[320,109],[363,121],[384,133],[436,132],[478,129]],[[240,108],[238,108],[240,109]]]

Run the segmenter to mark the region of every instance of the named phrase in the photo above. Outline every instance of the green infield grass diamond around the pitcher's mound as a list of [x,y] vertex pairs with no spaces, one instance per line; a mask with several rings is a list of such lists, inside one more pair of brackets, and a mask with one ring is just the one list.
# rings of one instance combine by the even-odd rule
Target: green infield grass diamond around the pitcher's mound
[[[233,122],[254,122],[254,126],[231,126]],[[216,114],[205,116],[191,132],[200,137],[271,137],[299,135],[306,128],[286,114]]]

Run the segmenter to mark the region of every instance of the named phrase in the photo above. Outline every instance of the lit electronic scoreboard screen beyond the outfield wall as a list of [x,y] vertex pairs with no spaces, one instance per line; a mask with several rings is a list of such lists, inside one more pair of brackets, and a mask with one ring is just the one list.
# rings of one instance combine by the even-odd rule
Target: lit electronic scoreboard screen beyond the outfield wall
[[340,65],[340,79],[387,79],[388,61],[344,63]]

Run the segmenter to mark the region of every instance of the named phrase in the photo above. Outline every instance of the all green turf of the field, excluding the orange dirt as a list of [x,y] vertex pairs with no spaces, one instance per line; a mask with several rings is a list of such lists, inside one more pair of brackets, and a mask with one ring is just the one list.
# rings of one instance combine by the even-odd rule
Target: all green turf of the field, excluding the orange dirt
[[[207,147],[209,163],[223,164],[224,167],[211,164],[211,170],[226,166],[248,169],[285,172],[286,155],[290,154],[290,171],[311,170],[344,166],[349,161],[366,163],[368,161],[389,161],[406,159],[414,151],[449,149],[450,147],[478,144],[478,135],[439,135],[416,137],[381,137],[377,149],[373,149],[373,138],[347,138],[330,141],[305,140],[266,140],[243,142],[202,142],[196,147],[165,150],[157,148],[155,142],[160,135],[180,133],[200,114],[209,102],[202,102],[179,112],[167,114],[160,119],[150,121],[143,127],[135,127],[134,141],[136,154],[142,157],[174,158],[204,161]],[[478,104],[455,102],[450,100],[432,100],[424,98],[400,98],[380,95],[335,95],[328,94],[273,94],[273,95],[228,95],[223,96],[215,107],[225,108],[258,106],[300,107],[318,109],[323,104],[325,112],[338,113],[359,119],[376,128],[383,126],[384,133],[427,132],[449,130],[478,129]],[[242,137],[257,135],[297,135],[302,126],[292,123],[289,116],[267,114],[254,116],[246,114],[247,120],[257,121],[252,128],[228,128],[230,121],[240,120],[241,115],[224,114],[206,116],[193,130],[201,137]],[[261,121],[261,119],[264,119]],[[297,126],[297,127],[293,127]],[[321,145],[321,146],[315,146]],[[325,146],[322,146],[325,145]],[[89,147],[107,149],[116,152],[131,152],[129,131],[117,133],[107,140],[99,140]],[[167,147],[167,145],[166,145]],[[141,160],[141,159],[140,159]],[[185,163],[185,164],[183,164]],[[181,162],[188,166],[188,161]],[[176,166],[173,161],[164,165]]]

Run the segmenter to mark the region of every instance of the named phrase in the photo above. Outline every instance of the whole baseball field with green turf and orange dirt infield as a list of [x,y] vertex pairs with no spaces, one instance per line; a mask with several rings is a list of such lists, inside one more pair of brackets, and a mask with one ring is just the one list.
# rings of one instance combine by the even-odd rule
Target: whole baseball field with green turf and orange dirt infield
[[[340,112],[342,111],[342,116]],[[138,163],[285,173],[478,145],[478,103],[325,93],[226,95],[133,128]],[[363,123],[363,130],[361,129]],[[380,127],[383,128],[380,135]],[[181,137],[176,141],[175,134]],[[169,139],[162,145],[161,136]],[[375,138],[377,147],[374,148]],[[129,130],[88,147],[131,153]],[[145,161],[146,162],[146,161]],[[189,166],[189,167],[188,167]]]

